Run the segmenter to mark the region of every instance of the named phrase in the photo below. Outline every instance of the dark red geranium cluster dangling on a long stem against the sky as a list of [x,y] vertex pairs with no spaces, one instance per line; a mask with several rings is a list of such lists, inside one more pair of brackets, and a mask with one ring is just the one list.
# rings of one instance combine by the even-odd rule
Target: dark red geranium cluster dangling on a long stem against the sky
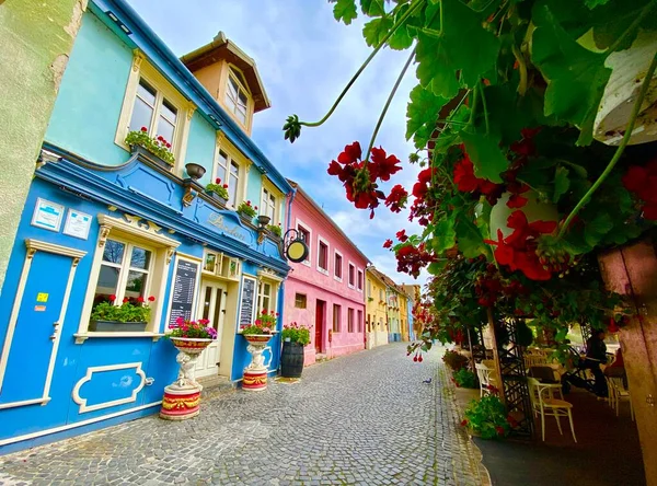
[[[374,217],[374,208],[379,199],[385,199],[383,192],[379,190],[377,180],[390,181],[390,176],[402,167],[400,160],[394,155],[387,155],[381,148],[373,148],[370,161],[361,161],[362,150],[360,143],[355,141],[345,147],[337,161],[328,164],[328,175],[336,175],[344,184],[347,199],[358,209],[370,209],[370,219]],[[391,199],[390,205],[397,199]]]

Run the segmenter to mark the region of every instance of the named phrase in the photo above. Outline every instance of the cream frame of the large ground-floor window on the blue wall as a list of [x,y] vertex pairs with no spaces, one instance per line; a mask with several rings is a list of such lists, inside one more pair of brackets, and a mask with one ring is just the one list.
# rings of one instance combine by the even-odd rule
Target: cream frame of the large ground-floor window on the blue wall
[[[88,337],[92,336],[160,336],[160,325],[162,323],[162,314],[164,312],[164,301],[168,299],[166,284],[169,269],[173,254],[177,246],[181,244],[178,241],[171,238],[164,236],[158,233],[159,227],[148,222],[143,224],[140,218],[128,217],[115,218],[107,215],[97,216],[99,224],[101,227],[99,231],[99,239],[95,245],[95,252],[93,255],[93,262],[91,265],[91,273],[89,275],[89,282],[87,285],[87,292],[84,294],[84,304],[82,306],[82,315],[78,325],[78,333],[76,333],[76,344],[82,344]],[[101,264],[103,262],[103,252],[106,240],[127,240],[129,243],[136,244],[141,247],[151,250],[151,262],[149,273],[149,296],[155,297],[155,301],[151,305],[151,319],[147,324],[146,331],[142,333],[122,333],[122,332],[93,332],[89,331],[89,320],[91,311],[93,309],[93,300],[95,296],[96,285],[99,281],[99,274],[101,271]],[[200,261],[199,261],[200,262]],[[199,265],[200,270],[200,265]],[[199,271],[200,274],[200,271]],[[120,277],[119,277],[120,282]],[[118,294],[117,294],[118,297]],[[148,302],[148,301],[147,301]]]

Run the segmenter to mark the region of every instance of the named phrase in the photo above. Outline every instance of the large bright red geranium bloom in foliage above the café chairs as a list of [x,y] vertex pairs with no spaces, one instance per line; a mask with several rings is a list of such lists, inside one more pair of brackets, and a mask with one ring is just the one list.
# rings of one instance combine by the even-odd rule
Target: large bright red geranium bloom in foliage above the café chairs
[[507,220],[514,232],[506,239],[502,230],[497,230],[497,241],[486,240],[495,245],[495,259],[507,265],[511,271],[521,270],[532,280],[550,280],[552,271],[543,267],[537,255],[537,239],[541,234],[550,234],[556,229],[556,221],[528,222],[522,211],[514,211]]

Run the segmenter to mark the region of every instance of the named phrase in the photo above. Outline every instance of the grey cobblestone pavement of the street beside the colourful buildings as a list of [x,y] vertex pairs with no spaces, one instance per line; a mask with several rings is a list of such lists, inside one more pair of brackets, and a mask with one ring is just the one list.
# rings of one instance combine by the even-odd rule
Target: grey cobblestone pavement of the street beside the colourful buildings
[[153,416],[0,458],[0,484],[479,486],[439,358],[415,363],[403,344],[337,358],[298,383],[206,400],[192,420]]

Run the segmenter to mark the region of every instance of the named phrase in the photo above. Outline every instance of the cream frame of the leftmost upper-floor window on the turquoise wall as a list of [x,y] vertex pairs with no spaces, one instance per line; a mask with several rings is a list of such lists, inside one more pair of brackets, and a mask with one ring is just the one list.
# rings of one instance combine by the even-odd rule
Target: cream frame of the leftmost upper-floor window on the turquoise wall
[[[166,101],[177,109],[173,140],[169,141],[171,142],[172,153],[175,157],[175,164],[172,169],[175,174],[182,175],[185,170],[184,158],[187,152],[189,125],[192,121],[192,116],[196,111],[196,105],[185,99],[185,96],[146,59],[146,56],[139,49],[134,50],[132,69],[130,69],[130,73],[128,76],[128,83],[126,85],[123,106],[118,117],[118,126],[116,129],[114,143],[127,151],[130,151],[130,148],[126,144],[125,139],[129,131],[129,125],[132,118],[132,111],[135,108],[137,89],[139,86],[140,79],[143,79],[157,91],[155,108],[153,111],[152,119],[155,121],[159,120],[159,111],[162,106],[163,99],[166,99]],[[151,130],[155,129],[155,125],[157,123],[151,126]]]

